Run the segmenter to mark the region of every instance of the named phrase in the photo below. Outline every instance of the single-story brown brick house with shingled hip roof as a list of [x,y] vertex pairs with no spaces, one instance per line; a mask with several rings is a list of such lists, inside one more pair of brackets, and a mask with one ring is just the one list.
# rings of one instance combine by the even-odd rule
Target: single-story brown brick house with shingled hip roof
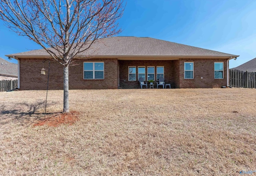
[[[41,49],[6,56],[18,60],[20,90],[46,89],[48,73],[41,75],[40,70],[48,53]],[[78,56],[76,65],[69,66],[69,88],[140,88],[140,77],[155,82],[164,77],[172,88],[228,86],[228,61],[236,57],[149,37],[109,37],[94,43]],[[63,89],[63,67],[54,61],[49,88]]]

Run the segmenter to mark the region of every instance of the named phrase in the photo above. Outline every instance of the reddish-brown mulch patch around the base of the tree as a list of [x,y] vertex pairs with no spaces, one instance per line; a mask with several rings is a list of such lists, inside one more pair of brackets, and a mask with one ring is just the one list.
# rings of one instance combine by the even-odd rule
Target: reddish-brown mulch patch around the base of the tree
[[73,125],[78,121],[78,116],[80,113],[78,111],[70,111],[69,113],[54,113],[44,116],[44,119],[39,120],[33,126],[48,125],[49,127],[57,127],[62,124]]

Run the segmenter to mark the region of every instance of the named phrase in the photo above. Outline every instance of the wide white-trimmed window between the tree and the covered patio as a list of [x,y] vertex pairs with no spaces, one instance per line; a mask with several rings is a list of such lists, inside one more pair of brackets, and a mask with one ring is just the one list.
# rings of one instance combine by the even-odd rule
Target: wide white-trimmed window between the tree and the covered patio
[[84,62],[84,79],[104,79],[104,63]]

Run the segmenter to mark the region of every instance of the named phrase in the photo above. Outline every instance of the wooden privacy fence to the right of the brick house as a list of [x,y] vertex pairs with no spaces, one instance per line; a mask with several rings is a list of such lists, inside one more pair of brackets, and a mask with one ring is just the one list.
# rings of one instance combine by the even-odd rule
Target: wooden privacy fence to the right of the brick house
[[256,72],[230,69],[229,85],[231,87],[256,88]]

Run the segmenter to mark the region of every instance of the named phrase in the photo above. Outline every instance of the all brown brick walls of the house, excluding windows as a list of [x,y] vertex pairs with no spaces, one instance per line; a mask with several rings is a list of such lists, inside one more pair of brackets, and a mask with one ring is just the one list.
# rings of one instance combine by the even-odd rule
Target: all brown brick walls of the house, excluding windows
[[[45,90],[47,88],[46,75],[42,75],[44,59],[20,59],[20,89]],[[116,89],[140,88],[138,82],[138,66],[164,66],[166,84],[172,88],[214,88],[226,86],[226,59],[179,59],[170,61],[123,61],[117,59],[79,59],[75,66],[69,66],[70,89]],[[83,62],[104,62],[103,80],[84,80]],[[194,79],[184,79],[184,62],[194,62]],[[214,62],[224,63],[224,79],[214,79]],[[128,81],[128,66],[136,66],[136,81]],[[44,63],[48,70],[48,61]],[[119,75],[118,75],[119,72]],[[202,79],[201,79],[202,77]],[[156,87],[156,85],[155,85]],[[63,66],[51,61],[49,89],[63,89]]]

